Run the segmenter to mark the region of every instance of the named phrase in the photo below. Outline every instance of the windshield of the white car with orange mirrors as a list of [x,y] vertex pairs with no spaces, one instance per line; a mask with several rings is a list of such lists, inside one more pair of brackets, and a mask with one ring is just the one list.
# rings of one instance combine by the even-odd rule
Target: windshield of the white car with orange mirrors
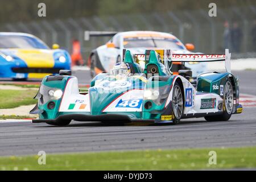
[[168,48],[168,49],[185,49],[183,44],[174,38],[124,38],[123,46],[125,48],[134,47],[156,47],[156,48]]

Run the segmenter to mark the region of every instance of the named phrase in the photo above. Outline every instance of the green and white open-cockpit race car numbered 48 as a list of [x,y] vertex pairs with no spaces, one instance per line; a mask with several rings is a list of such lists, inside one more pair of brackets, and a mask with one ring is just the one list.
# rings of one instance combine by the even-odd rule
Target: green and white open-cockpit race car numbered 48
[[[159,55],[163,52],[163,55]],[[160,53],[161,54],[161,53]],[[129,50],[112,73],[100,73],[87,92],[79,89],[71,71],[44,77],[31,114],[33,123],[68,125],[74,121],[178,123],[183,118],[204,117],[227,121],[242,113],[238,79],[230,73],[230,53],[223,55],[173,54],[171,50],[147,50],[145,68],[135,63],[138,55]],[[188,61],[225,61],[225,73],[207,72],[189,81],[190,70],[172,75],[170,65]]]

